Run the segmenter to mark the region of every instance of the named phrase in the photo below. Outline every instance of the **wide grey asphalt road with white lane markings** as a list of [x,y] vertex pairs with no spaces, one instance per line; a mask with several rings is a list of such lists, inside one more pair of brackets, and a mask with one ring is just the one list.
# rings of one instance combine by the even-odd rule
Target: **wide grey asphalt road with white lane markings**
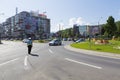
[[120,59],[73,52],[62,46],[34,43],[27,54],[26,43],[2,41],[0,80],[119,80]]

